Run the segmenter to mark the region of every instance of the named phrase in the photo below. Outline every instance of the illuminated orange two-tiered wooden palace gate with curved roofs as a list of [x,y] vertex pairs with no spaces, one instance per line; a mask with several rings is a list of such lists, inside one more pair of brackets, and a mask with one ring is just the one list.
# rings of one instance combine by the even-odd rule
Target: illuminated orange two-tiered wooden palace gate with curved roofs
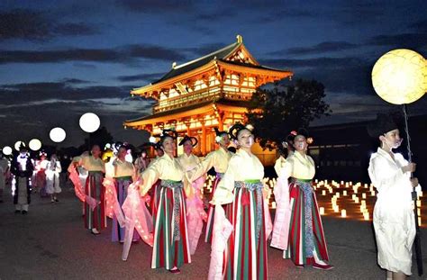
[[172,69],[158,81],[135,88],[132,95],[158,101],[152,114],[124,125],[159,136],[162,129],[199,140],[196,152],[205,155],[214,148],[214,127],[227,130],[245,122],[246,105],[257,87],[293,75],[290,71],[259,65],[243,45],[240,35],[231,45]]

